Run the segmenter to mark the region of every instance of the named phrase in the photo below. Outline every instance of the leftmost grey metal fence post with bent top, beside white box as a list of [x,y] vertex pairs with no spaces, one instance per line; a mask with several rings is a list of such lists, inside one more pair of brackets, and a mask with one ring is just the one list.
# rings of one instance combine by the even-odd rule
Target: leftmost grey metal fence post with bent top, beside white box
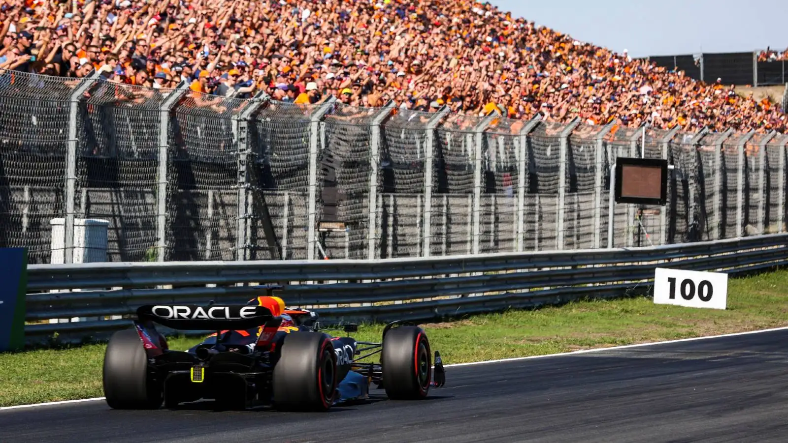
[[99,79],[99,72],[91,72],[72,90],[69,96],[69,140],[65,151],[65,226],[63,238],[63,263],[74,262],[74,203],[76,199],[76,145],[80,142],[76,133],[79,123],[80,99]]

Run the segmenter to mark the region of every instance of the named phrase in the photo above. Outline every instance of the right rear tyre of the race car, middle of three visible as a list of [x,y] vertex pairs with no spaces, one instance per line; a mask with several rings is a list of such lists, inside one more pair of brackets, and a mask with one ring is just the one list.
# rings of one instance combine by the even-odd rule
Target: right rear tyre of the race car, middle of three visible
[[273,368],[273,404],[281,411],[328,411],[336,392],[336,353],[331,338],[291,332]]

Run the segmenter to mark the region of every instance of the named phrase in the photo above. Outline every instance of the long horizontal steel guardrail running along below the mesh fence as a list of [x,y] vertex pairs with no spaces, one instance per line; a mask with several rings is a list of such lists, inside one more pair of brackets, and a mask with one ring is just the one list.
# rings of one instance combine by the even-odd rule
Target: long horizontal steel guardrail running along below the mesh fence
[[[288,305],[322,319],[426,320],[620,297],[648,288],[656,267],[730,274],[788,264],[788,234],[641,248],[385,260],[35,264],[28,267],[29,342],[104,338],[151,302],[245,302],[255,284],[284,284]],[[73,317],[98,319],[40,323]]]

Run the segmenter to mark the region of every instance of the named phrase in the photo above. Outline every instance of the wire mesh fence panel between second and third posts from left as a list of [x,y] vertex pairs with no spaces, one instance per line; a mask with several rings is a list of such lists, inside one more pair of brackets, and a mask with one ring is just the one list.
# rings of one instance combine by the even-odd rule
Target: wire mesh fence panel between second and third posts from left
[[189,90],[173,113],[167,260],[236,260],[236,117],[248,100]]

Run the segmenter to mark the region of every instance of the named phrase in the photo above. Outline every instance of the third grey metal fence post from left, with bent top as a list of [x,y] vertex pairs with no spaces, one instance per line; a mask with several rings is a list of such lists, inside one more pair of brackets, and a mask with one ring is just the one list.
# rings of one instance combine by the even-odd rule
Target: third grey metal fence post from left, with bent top
[[251,137],[249,127],[251,115],[260,106],[268,102],[269,96],[264,92],[258,92],[240,113],[232,116],[232,129],[236,132],[236,146],[238,152],[238,215],[236,218],[236,260],[249,260],[249,239],[247,238],[247,224],[249,223],[249,213],[247,205],[247,194],[249,182],[247,174],[249,172],[249,152],[251,151]]

